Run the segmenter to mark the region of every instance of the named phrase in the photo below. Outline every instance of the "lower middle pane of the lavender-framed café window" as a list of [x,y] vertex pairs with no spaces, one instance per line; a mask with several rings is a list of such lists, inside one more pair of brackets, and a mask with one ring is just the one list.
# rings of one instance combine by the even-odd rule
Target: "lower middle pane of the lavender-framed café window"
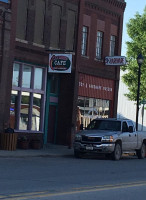
[[19,129],[20,130],[27,130],[29,104],[30,104],[29,99],[30,99],[30,93],[22,92],[21,107],[20,107],[20,121],[19,121]]

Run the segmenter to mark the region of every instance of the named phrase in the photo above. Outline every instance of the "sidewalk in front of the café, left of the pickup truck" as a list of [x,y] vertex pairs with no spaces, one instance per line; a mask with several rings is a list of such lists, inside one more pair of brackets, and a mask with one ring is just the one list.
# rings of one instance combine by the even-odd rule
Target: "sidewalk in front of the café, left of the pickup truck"
[[16,149],[15,151],[0,150],[0,158],[24,157],[64,157],[73,156],[73,148],[62,145],[47,144],[42,149]]

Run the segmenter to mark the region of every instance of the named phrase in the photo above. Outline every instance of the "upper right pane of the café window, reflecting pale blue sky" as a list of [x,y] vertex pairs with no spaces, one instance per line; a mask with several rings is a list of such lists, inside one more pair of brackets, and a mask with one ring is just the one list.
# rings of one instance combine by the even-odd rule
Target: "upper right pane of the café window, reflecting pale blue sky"
[[35,68],[34,74],[34,89],[42,89],[42,77],[43,77],[43,69]]

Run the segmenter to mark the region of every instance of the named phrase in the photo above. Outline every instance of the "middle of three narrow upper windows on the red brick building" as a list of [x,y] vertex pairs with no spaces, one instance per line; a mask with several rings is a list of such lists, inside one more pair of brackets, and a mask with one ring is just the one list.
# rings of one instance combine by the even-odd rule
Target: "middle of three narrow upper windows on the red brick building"
[[97,31],[96,58],[99,60],[101,60],[102,57],[102,44],[103,44],[103,32]]

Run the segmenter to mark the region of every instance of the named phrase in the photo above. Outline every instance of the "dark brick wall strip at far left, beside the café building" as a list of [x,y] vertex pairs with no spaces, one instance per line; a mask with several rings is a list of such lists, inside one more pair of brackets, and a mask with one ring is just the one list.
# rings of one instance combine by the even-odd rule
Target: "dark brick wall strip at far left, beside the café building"
[[[13,33],[11,4],[0,1],[0,132],[9,126],[10,94],[13,63]],[[13,32],[13,33],[12,33]]]

